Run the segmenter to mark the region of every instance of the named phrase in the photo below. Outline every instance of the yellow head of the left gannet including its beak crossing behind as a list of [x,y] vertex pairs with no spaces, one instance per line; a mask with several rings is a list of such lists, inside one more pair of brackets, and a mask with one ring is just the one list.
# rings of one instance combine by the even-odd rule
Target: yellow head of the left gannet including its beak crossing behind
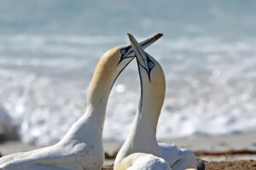
[[[156,34],[154,37],[140,42],[140,45],[142,48],[147,48],[161,36],[161,34]],[[108,99],[102,99],[104,96],[102,94],[110,93],[113,83],[134,57],[135,53],[131,45],[112,48],[103,54],[90,82],[87,94],[88,104],[108,101]],[[105,95],[106,98],[107,96]]]

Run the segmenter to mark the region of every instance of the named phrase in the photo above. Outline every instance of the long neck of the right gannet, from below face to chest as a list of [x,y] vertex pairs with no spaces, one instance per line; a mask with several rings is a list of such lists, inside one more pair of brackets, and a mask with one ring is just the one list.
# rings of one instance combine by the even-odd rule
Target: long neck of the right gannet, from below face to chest
[[[159,69],[158,69],[159,70]],[[132,123],[131,131],[125,139],[125,143],[119,150],[114,161],[114,169],[126,156],[135,152],[150,153],[160,156],[160,148],[156,140],[156,127],[160,110],[164,102],[166,82],[163,72],[152,75],[155,81],[148,81],[148,73],[140,73],[141,99],[138,105],[137,114]]]

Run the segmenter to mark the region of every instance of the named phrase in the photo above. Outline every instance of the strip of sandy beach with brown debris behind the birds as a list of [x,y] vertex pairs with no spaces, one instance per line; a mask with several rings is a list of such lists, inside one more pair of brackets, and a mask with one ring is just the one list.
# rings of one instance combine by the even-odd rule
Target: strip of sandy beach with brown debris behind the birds
[[[180,139],[161,140],[168,144],[175,143],[179,147],[189,148],[206,162],[206,169],[256,169],[256,131],[249,133],[205,136]],[[105,165],[113,164],[116,151],[123,142],[105,141]],[[34,150],[39,148],[32,144],[23,144],[20,141],[7,141],[0,144],[3,156],[15,152]]]

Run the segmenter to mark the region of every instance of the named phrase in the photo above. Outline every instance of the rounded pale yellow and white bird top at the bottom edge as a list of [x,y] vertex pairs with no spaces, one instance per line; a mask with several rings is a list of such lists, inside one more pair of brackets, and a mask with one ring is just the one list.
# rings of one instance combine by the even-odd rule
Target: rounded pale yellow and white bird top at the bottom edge
[[162,158],[152,154],[134,153],[125,157],[116,170],[172,170]]

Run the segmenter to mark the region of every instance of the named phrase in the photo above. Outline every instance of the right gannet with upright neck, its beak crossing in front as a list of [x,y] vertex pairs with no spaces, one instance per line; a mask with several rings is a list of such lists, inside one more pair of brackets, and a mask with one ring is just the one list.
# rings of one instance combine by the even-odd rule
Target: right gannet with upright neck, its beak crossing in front
[[172,170],[196,168],[195,155],[191,150],[157,142],[156,127],[166,93],[165,75],[157,60],[147,54],[131,34],[128,37],[137,57],[141,98],[129,136],[114,161],[114,169],[126,156],[136,152],[161,157]]

